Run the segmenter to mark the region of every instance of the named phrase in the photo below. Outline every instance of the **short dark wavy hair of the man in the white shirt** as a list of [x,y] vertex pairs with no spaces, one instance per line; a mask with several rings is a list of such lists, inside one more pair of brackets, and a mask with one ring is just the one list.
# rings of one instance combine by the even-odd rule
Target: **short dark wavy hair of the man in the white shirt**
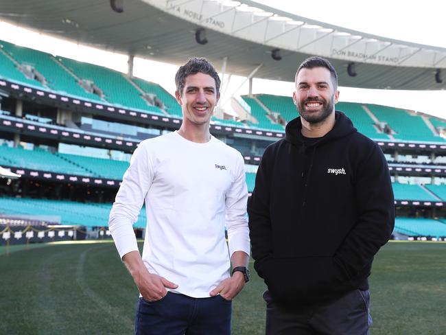
[[216,93],[220,92],[220,77],[218,76],[217,71],[215,71],[215,67],[204,57],[193,57],[187,60],[187,63],[180,67],[178,71],[176,71],[175,75],[175,84],[176,91],[181,93],[185,88],[185,79],[187,76],[196,73],[204,73],[209,74],[215,80],[215,89]]

